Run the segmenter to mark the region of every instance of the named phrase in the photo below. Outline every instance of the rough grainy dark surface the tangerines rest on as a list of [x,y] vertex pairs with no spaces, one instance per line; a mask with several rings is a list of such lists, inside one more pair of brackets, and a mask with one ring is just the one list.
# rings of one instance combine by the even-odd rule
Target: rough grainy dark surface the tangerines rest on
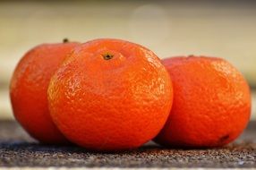
[[0,121],[0,167],[256,167],[256,122],[234,143],[218,149],[164,149],[148,143],[120,153],[32,140],[18,123]]

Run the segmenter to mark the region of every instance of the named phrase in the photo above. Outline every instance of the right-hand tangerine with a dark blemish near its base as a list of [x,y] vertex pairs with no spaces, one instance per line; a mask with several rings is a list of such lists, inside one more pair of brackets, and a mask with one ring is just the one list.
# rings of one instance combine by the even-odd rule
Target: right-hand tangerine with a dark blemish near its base
[[219,147],[235,140],[251,115],[243,75],[216,57],[172,57],[162,61],[174,87],[170,116],[156,141],[169,147]]

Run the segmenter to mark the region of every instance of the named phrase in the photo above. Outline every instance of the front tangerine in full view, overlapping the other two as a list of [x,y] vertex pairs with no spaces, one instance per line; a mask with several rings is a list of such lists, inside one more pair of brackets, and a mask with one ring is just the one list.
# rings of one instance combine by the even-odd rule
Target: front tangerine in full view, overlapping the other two
[[134,149],[154,138],[172,106],[172,84],[149,49],[118,39],[76,47],[48,88],[52,118],[90,150]]

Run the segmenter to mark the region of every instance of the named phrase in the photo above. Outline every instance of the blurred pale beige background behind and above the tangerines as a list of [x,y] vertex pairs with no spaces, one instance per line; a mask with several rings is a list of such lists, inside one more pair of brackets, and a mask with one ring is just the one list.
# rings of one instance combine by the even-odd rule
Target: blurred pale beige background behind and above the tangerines
[[224,57],[243,72],[256,104],[256,1],[0,0],[0,119],[13,119],[8,86],[21,56],[63,38],[124,38],[160,58]]

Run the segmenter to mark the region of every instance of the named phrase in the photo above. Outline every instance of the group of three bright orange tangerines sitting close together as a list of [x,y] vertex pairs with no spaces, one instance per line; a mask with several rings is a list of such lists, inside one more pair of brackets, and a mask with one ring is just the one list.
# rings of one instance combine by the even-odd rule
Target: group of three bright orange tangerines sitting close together
[[32,137],[90,150],[219,147],[243,132],[251,95],[225,60],[160,60],[120,39],[43,44],[21,58],[10,85],[13,114]]

